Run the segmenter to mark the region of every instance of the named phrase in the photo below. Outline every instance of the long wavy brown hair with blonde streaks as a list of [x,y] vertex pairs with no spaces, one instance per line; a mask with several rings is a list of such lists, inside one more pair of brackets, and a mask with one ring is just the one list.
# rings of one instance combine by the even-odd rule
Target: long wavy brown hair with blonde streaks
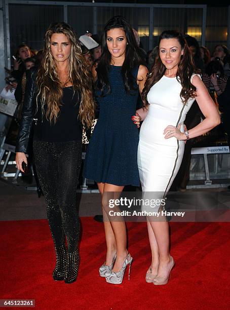
[[71,82],[74,91],[79,91],[81,94],[78,117],[84,125],[89,127],[95,110],[92,96],[92,74],[87,67],[80,42],[76,38],[74,30],[64,22],[52,23],[46,32],[42,61],[36,78],[38,88],[36,102],[38,98],[41,98],[43,115],[45,114],[44,106],[47,105],[46,118],[55,123],[60,112],[63,85],[59,79],[58,67],[51,53],[51,36],[53,33],[65,34],[71,44],[68,58],[68,82]]

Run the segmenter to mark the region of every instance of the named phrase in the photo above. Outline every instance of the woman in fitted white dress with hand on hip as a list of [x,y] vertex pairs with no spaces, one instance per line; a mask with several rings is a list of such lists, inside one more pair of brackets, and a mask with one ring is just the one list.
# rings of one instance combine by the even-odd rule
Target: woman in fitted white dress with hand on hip
[[[210,131],[220,123],[220,118],[182,35],[173,30],[164,31],[158,46],[159,55],[142,93],[144,107],[137,110],[139,121],[144,120],[138,168],[142,191],[153,195],[161,192],[164,199],[180,167],[184,141]],[[183,121],[195,99],[205,120],[187,132]],[[174,266],[169,253],[168,222],[147,217],[147,228],[152,262],[146,282],[166,284]]]

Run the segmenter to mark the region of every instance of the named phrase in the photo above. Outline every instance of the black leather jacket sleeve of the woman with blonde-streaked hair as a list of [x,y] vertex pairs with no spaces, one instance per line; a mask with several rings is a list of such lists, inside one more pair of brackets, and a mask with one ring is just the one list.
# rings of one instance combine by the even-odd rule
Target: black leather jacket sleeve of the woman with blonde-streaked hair
[[24,105],[22,108],[22,118],[19,127],[19,133],[16,143],[16,152],[27,153],[29,137],[31,128],[33,126],[33,135],[36,140],[40,140],[41,137],[41,123],[42,123],[42,110],[41,103],[38,100],[38,107],[36,109],[36,75],[37,68],[32,67],[26,72],[26,87]]

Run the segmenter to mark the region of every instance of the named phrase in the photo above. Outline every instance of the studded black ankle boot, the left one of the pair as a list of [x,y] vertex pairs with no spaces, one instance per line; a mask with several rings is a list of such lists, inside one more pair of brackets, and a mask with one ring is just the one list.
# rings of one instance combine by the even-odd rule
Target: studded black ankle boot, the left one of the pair
[[64,280],[66,262],[67,262],[67,251],[65,246],[55,247],[56,253],[56,266],[53,271],[53,278],[55,281]]

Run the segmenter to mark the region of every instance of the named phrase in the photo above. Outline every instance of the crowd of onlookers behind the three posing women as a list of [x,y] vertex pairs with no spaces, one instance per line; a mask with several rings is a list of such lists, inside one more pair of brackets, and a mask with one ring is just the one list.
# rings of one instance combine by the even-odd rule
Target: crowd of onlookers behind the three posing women
[[[145,52],[141,47],[140,37],[138,32],[133,29],[134,36],[140,49],[140,54],[142,57],[143,63],[146,65],[148,70],[155,63],[155,59],[158,56],[158,46],[154,49]],[[83,54],[86,59],[87,65],[90,70],[96,65],[98,60],[101,57],[101,38],[98,34],[86,33],[93,38],[93,40],[98,43],[98,47],[88,50],[86,47],[82,46]],[[185,36],[185,40],[189,46],[189,49],[193,55],[193,59],[197,68],[201,70],[202,81],[207,87],[211,97],[218,105],[219,112],[221,113],[221,121],[227,135],[227,143],[230,143],[230,128],[229,123],[227,122],[229,116],[229,102],[225,93],[227,90],[227,79],[230,76],[230,52],[225,45],[216,45],[213,51],[209,51],[207,47],[199,46],[198,41],[195,37],[189,35]],[[25,89],[25,71],[30,69],[32,66],[38,66],[42,59],[43,50],[33,50],[28,47],[26,44],[21,44],[18,46],[15,53],[15,59],[13,61],[13,69],[8,70],[9,76],[7,78],[7,90],[15,89],[15,98],[19,104],[18,107],[18,117],[20,119],[20,113],[23,106],[24,98],[24,89]],[[229,83],[228,83],[229,84]],[[21,104],[22,103],[22,104]],[[142,105],[142,100],[139,97],[138,100],[140,107]],[[196,102],[193,104],[193,107],[189,110],[185,124],[187,128],[190,127],[190,122],[193,122],[191,126],[199,123],[202,119],[202,114],[198,108]],[[186,167],[182,164],[181,170],[183,171],[183,176],[186,176],[183,180],[180,180],[178,186],[174,188],[185,189],[188,182],[189,176],[189,153],[194,140],[190,140],[186,145],[185,153],[188,153],[186,157]],[[188,159],[188,161],[187,161]],[[185,172],[186,171],[186,172]],[[177,178],[179,177],[178,174]]]

